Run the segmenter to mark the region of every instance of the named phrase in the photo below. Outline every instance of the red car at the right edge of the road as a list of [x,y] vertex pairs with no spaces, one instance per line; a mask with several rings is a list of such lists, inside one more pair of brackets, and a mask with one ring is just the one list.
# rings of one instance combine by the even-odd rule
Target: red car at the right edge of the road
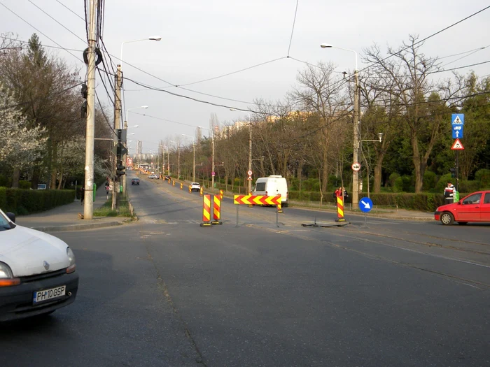
[[490,222],[490,190],[473,192],[457,203],[440,206],[434,219],[444,225],[467,224],[468,222]]

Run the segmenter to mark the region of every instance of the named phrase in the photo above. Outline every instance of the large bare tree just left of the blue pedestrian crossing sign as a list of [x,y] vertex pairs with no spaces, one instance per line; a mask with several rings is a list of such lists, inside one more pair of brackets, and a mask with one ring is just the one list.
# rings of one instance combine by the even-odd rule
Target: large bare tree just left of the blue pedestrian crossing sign
[[[380,79],[377,87],[391,97],[391,107],[399,108],[404,125],[400,131],[407,131],[412,146],[415,192],[421,192],[423,173],[441,132],[441,111],[434,113],[430,108],[442,108],[445,103],[437,101],[458,94],[461,87],[458,83],[435,82],[430,78],[430,74],[440,71],[440,67],[437,59],[421,53],[422,43],[417,39],[417,36],[409,36],[408,43],[398,48],[388,47],[388,57],[381,55],[378,46],[374,45],[365,50],[365,61],[371,64],[370,69]],[[432,106],[427,104],[430,101]]]

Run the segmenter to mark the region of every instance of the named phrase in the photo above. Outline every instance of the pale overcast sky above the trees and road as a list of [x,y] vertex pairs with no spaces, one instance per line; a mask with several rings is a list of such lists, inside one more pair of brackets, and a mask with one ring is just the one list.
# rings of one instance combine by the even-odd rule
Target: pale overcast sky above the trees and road
[[[359,54],[359,69],[362,69],[364,48],[374,43],[382,50],[386,50],[386,45],[396,47],[407,41],[409,34],[425,38],[490,5],[483,0],[106,0],[105,3],[103,39],[116,64],[123,42],[155,35],[162,37],[160,42],[125,43],[123,53],[125,78],[159,88],[169,87],[167,82],[184,85],[288,56],[297,4],[289,56],[312,64],[333,62],[337,71],[354,69],[353,52],[322,49],[321,43],[355,50]],[[36,32],[45,46],[58,43],[63,48],[80,50],[71,51],[74,57],[64,50],[49,48],[50,53],[82,69],[80,75],[84,78],[81,50],[87,47],[86,41],[73,35],[86,40],[85,22],[80,19],[84,18],[84,13],[83,0],[0,0],[0,29],[1,33],[17,34],[21,41],[27,41]],[[486,47],[472,55],[468,52],[447,57],[444,64],[452,62],[446,66],[449,69],[486,62],[490,60],[489,34],[490,9],[428,39],[422,50],[430,57],[446,57]],[[304,66],[294,59],[284,58],[185,87],[195,92],[179,87],[168,90],[202,101],[253,110],[250,102],[254,99],[283,99],[295,85],[297,71]],[[487,75],[490,63],[459,71],[468,73],[470,70],[479,76]],[[137,139],[143,141],[144,152],[155,150],[162,139],[175,140],[177,136],[183,139],[182,143],[190,143],[191,139],[181,134],[195,136],[196,127],[209,127],[211,113],[216,113],[221,124],[246,119],[244,112],[151,91],[129,80],[124,87],[125,109],[148,106],[146,110],[129,113],[129,125],[139,125],[128,131],[134,132],[133,136],[128,136],[134,141],[130,144],[130,153],[134,153]],[[98,74],[97,93],[102,103],[111,105]],[[203,134],[209,135],[209,132],[203,131]]]

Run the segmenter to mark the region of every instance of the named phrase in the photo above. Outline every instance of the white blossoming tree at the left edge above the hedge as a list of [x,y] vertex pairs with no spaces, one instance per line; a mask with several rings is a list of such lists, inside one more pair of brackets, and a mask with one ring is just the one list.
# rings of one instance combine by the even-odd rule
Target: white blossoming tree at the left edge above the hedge
[[0,85],[0,161],[13,168],[12,187],[19,186],[20,170],[34,164],[45,143],[43,129],[28,125],[15,100]]

